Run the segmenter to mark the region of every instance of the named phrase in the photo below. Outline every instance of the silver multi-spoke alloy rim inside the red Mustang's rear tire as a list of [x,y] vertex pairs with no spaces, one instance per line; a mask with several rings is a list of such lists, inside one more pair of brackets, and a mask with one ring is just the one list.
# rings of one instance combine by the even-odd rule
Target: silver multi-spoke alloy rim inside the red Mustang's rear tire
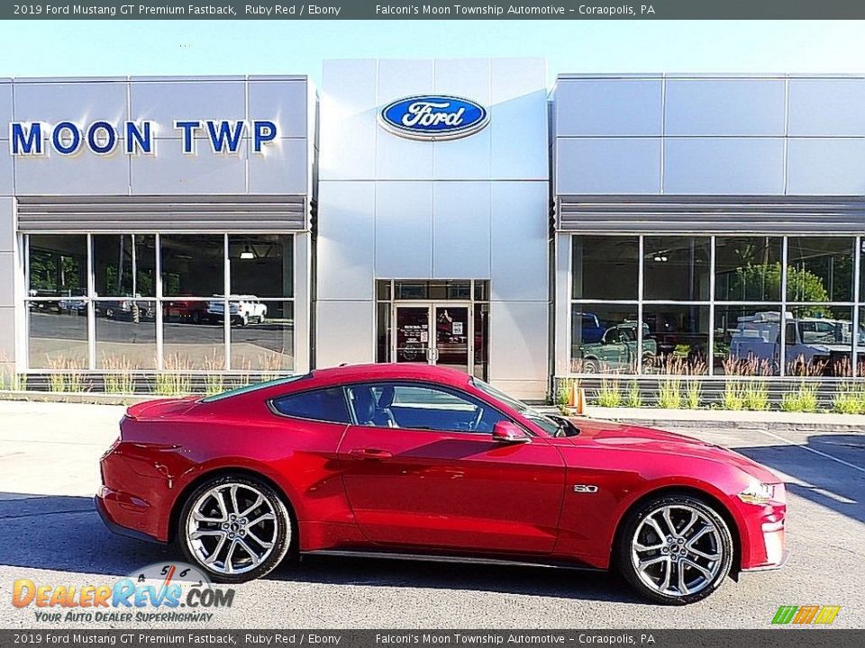
[[[222,483],[205,491],[187,518],[190,553],[213,572],[250,572],[267,560],[277,542],[273,505],[254,486]],[[286,530],[290,542],[291,529]]]

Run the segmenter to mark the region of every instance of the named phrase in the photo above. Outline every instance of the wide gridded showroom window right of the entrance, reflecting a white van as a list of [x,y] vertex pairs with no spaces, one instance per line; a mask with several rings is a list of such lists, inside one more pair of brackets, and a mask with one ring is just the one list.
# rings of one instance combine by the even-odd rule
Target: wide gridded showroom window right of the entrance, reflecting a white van
[[572,371],[862,376],[863,263],[851,237],[574,236]]

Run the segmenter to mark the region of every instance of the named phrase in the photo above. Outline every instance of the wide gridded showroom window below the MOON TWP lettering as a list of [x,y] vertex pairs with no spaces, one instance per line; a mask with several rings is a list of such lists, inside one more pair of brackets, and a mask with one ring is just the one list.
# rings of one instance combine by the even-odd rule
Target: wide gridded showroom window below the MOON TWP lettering
[[30,235],[28,366],[290,372],[293,244],[291,235]]

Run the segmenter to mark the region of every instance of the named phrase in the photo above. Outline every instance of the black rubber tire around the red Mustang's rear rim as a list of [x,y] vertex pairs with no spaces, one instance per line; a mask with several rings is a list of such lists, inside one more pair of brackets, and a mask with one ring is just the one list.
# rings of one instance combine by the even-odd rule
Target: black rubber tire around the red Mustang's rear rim
[[[190,517],[193,514],[193,506],[196,501],[205,495],[208,491],[212,491],[217,487],[231,486],[236,484],[241,487],[250,487],[258,491],[266,500],[267,505],[274,511],[274,526],[275,539],[273,547],[264,560],[257,566],[252,567],[248,571],[241,573],[226,573],[224,571],[214,569],[209,564],[205,563],[202,557],[196,552],[187,535],[187,526],[190,522]],[[262,505],[263,506],[263,505]],[[296,523],[286,502],[282,499],[277,491],[274,491],[267,482],[249,477],[246,475],[223,475],[214,477],[200,484],[195,491],[192,491],[187,500],[184,502],[183,509],[180,511],[178,518],[178,533],[177,543],[180,545],[180,550],[183,552],[188,563],[196,565],[202,569],[214,582],[224,583],[240,583],[246,581],[254,581],[269,572],[273,571],[293,546],[296,545]]]

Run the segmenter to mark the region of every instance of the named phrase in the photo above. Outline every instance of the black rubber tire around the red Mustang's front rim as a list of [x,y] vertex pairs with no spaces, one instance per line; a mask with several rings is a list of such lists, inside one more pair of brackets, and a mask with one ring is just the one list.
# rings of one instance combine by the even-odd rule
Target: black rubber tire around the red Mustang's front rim
[[[703,587],[703,589],[690,594],[673,594],[661,593],[659,590],[652,589],[649,585],[642,581],[637,568],[632,561],[632,542],[634,534],[640,527],[643,519],[648,517],[652,512],[657,511],[666,506],[684,506],[691,509],[696,509],[700,514],[706,516],[717,529],[719,538],[719,549],[721,558],[719,559],[719,569],[711,581]],[[637,590],[646,599],[651,599],[657,603],[665,605],[687,605],[695,603],[698,600],[706,599],[707,596],[717,590],[724,579],[729,575],[733,567],[733,535],[730,532],[730,527],[724,518],[710,506],[705,500],[702,500],[690,494],[667,494],[659,497],[651,498],[643,502],[637,509],[634,509],[627,518],[624,519],[622,533],[619,534],[618,544],[615,547],[615,563],[619,572],[624,577],[625,581]],[[678,567],[677,567],[678,569]],[[687,573],[687,572],[686,572]]]

